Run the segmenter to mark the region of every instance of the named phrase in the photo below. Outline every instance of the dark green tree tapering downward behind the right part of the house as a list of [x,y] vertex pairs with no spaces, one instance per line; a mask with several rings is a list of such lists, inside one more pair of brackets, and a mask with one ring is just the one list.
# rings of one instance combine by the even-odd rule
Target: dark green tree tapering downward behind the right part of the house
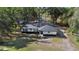
[[51,18],[53,19],[53,23],[57,22],[57,19],[59,16],[62,16],[65,13],[68,13],[70,8],[64,8],[64,7],[49,7],[47,8],[47,11],[49,15],[51,15]]

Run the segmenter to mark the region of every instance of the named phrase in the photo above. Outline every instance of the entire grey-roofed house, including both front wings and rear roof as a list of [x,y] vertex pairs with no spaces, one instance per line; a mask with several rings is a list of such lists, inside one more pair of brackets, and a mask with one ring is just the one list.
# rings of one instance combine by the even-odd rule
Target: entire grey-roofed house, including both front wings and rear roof
[[33,23],[26,24],[21,29],[22,33],[32,33],[32,34],[39,34],[39,35],[57,35],[58,28],[57,26],[51,25],[47,22],[42,20],[34,21]]

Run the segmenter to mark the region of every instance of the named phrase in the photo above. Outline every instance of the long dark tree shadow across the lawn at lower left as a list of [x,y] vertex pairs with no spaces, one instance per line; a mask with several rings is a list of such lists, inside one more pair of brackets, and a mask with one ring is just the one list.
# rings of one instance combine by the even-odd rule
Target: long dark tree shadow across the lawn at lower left
[[23,47],[27,47],[27,44],[30,44],[34,41],[35,40],[32,40],[32,38],[17,37],[16,40],[0,41],[0,46],[15,47],[16,49],[20,49]]

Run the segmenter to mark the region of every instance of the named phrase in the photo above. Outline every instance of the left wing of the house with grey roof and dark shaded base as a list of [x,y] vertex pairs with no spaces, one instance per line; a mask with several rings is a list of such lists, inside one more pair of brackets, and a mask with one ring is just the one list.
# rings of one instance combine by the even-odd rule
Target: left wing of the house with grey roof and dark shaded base
[[38,28],[32,24],[26,24],[22,29],[22,33],[38,33]]

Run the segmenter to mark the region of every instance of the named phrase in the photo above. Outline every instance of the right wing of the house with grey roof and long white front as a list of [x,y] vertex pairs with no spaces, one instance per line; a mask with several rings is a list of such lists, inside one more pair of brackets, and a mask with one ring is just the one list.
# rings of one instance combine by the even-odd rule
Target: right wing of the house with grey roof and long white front
[[57,35],[58,29],[56,27],[45,25],[39,28],[40,34],[46,35]]

